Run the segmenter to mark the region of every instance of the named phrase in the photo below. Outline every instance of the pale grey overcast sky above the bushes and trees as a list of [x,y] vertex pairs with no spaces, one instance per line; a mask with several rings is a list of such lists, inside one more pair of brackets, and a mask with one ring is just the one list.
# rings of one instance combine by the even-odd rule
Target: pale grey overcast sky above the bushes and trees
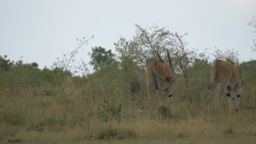
[[51,67],[61,51],[74,50],[76,39],[94,38],[85,46],[115,52],[119,35],[131,38],[135,24],[188,32],[188,47],[235,48],[240,59],[251,53],[256,37],[247,21],[256,14],[256,0],[0,0],[0,55],[40,68]]

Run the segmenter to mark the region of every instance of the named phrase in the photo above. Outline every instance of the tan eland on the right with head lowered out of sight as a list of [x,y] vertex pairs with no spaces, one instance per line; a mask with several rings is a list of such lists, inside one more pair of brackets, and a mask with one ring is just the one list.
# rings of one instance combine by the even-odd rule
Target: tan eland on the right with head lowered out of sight
[[[212,91],[209,100],[209,110],[211,111],[211,101],[214,95],[213,92],[219,84],[219,109],[222,110],[222,95],[226,93],[229,101],[229,111],[232,111],[232,98],[234,99],[235,94],[237,111],[240,99],[243,95],[244,85],[244,80],[241,80],[241,69],[240,72],[238,72],[235,65],[229,61],[216,61],[211,69],[211,78],[212,84],[209,88],[212,88]],[[231,91],[233,91],[232,96],[230,95]]]

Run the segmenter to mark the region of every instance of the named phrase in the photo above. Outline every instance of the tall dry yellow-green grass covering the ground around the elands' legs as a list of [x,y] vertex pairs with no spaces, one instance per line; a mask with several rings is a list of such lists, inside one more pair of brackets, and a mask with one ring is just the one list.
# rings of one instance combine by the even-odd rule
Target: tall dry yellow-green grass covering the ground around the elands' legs
[[[158,109],[152,98],[149,111],[145,89],[131,96],[119,85],[109,92],[107,86],[93,82],[85,88],[68,82],[62,95],[58,85],[52,88],[51,96],[40,94],[43,91],[40,88],[35,89],[39,93],[35,96],[27,87],[19,87],[14,96],[9,90],[2,91],[0,143],[250,144],[256,141],[256,106],[252,102],[255,97],[249,95],[253,89],[245,91],[238,112],[229,112],[228,101],[224,99],[223,111],[219,112],[215,97],[209,115],[207,91],[197,96],[197,101],[188,102],[182,99],[186,96],[181,96],[183,89],[177,84],[169,107],[166,107],[167,97]],[[139,112],[141,107],[143,112]]]

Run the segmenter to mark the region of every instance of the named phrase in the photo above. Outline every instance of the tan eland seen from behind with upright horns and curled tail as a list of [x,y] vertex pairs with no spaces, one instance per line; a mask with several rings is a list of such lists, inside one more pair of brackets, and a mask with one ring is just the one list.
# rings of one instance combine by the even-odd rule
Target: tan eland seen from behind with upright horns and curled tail
[[[167,49],[166,49],[167,50]],[[156,89],[157,96],[156,96],[156,104],[161,105],[161,95],[164,90],[167,90],[168,93],[168,105],[171,101],[172,96],[172,84],[175,82],[173,77],[173,71],[171,67],[171,58],[169,52],[167,50],[167,56],[169,59],[169,65],[166,64],[163,59],[161,59],[159,53],[157,52],[157,56],[160,60],[153,61],[149,64],[147,68],[147,92],[148,92],[148,101],[149,101],[149,109],[151,108],[151,94],[152,89]]]

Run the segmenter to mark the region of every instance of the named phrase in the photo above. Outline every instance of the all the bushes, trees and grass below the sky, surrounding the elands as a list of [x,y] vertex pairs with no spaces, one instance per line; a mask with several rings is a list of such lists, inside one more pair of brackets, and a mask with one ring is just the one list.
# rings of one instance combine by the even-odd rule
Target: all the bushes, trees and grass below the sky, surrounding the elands
[[[222,52],[216,48],[216,55],[211,56],[198,53],[187,48],[187,34],[173,34],[157,26],[136,27],[132,40],[120,37],[115,43],[116,54],[92,48],[93,72],[83,61],[72,66],[86,40],[51,68],[39,69],[37,63],[0,56],[0,143],[138,138],[186,138],[197,143],[222,139],[223,133],[256,139],[256,60],[239,63],[234,49]],[[165,93],[163,106],[149,112],[145,72],[156,59],[156,50],[167,59],[166,48],[175,72],[173,101],[166,107]],[[235,61],[242,69],[243,104],[237,113],[229,113],[224,100],[224,112],[219,113],[216,106],[208,114],[207,87],[215,59]],[[77,69],[86,72],[75,75]],[[217,104],[215,99],[213,105]]]

